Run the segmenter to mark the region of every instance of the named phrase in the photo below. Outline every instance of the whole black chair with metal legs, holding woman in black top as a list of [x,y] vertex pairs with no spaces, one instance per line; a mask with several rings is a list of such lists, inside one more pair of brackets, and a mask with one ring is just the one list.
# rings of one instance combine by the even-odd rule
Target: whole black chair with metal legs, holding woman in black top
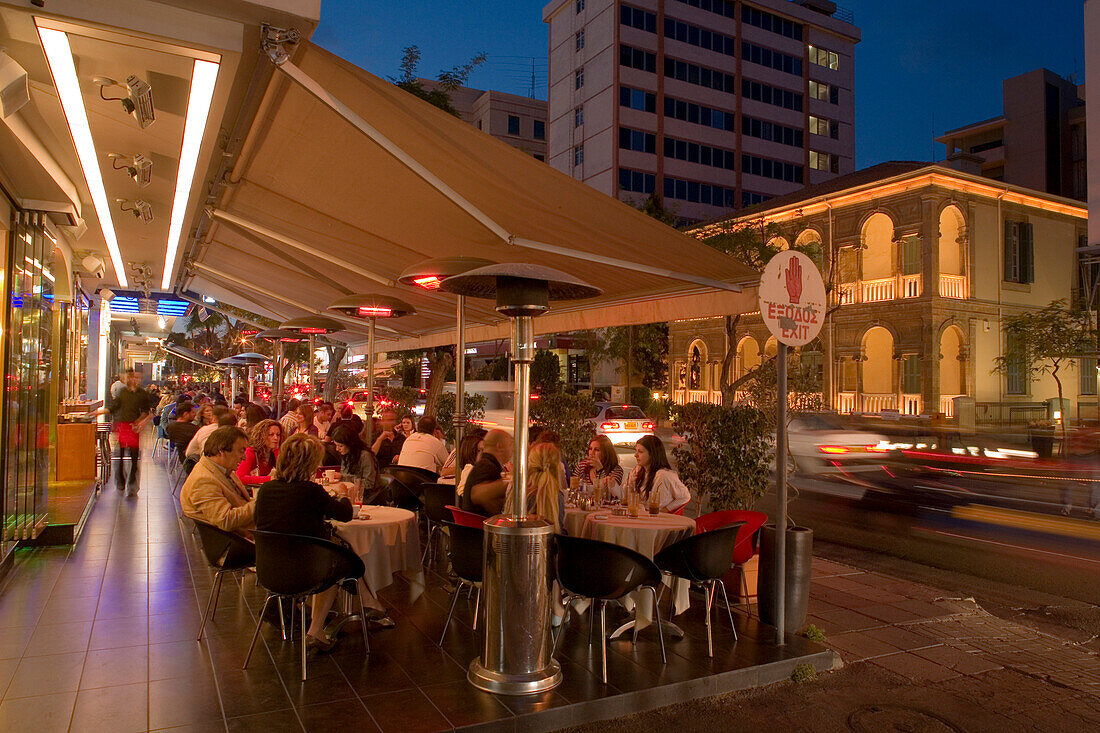
[[[278,532],[253,532],[256,538],[256,582],[267,590],[267,598],[256,620],[256,631],[252,634],[249,653],[244,657],[244,668],[252,658],[252,649],[260,636],[267,604],[273,599],[282,603],[290,599],[298,604],[301,614],[301,679],[306,679],[306,598],[344,582],[358,582],[366,569],[363,560],[343,545],[328,539],[287,535]],[[358,592],[359,619],[363,628],[363,644],[371,653],[371,637],[366,630],[366,610],[363,598]]]

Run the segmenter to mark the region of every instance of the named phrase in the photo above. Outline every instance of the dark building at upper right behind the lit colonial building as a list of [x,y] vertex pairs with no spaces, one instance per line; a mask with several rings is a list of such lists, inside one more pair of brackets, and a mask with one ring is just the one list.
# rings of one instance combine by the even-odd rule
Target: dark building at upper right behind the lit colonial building
[[948,130],[948,160],[969,158],[994,180],[1086,200],[1085,89],[1041,68],[1003,83],[1004,112]]

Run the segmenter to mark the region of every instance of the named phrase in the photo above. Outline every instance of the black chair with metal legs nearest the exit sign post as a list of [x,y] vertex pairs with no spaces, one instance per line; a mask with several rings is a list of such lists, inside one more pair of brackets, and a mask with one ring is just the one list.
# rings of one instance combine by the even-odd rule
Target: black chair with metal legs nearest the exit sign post
[[707,656],[714,656],[714,641],[711,636],[711,609],[714,605],[716,589],[722,589],[722,598],[726,602],[726,613],[729,614],[729,627],[734,630],[734,641],[737,641],[737,627],[734,625],[734,612],[729,609],[729,598],[726,595],[726,584],[722,577],[729,572],[733,566],[734,546],[737,544],[737,533],[744,522],[735,522],[719,529],[704,532],[674,545],[666,547],[653,562],[676,578],[683,578],[695,586],[702,586],[706,592],[706,648]]

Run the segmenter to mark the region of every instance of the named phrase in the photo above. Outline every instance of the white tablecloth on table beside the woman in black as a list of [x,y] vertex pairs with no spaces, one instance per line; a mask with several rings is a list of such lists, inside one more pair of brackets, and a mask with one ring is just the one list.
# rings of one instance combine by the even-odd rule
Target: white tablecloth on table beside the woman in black
[[363,559],[363,580],[372,593],[394,582],[404,572],[414,584],[424,586],[420,566],[420,533],[416,515],[394,506],[366,506],[370,519],[333,522],[337,533]]

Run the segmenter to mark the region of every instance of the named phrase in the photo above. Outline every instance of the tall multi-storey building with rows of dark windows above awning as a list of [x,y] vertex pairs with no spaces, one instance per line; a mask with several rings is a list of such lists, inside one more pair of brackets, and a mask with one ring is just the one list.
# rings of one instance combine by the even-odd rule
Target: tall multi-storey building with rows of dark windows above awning
[[850,13],[826,0],[553,0],[550,164],[683,220],[855,169]]

